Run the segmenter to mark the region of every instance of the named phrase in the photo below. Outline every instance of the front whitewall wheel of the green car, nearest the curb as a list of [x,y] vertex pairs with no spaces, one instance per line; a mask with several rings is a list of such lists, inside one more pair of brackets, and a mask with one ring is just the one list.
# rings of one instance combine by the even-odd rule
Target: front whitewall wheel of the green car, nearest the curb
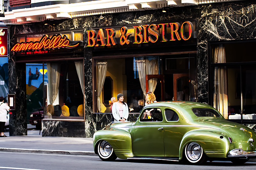
[[114,149],[105,140],[100,141],[98,144],[98,155],[104,161],[113,161],[117,158]]

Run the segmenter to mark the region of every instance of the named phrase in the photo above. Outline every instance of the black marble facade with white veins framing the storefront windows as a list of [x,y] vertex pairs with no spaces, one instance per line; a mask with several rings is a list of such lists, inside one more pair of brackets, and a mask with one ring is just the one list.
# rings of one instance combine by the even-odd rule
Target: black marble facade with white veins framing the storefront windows
[[[194,18],[197,31],[199,102],[208,103],[208,42],[255,39],[255,11],[255,1],[246,0],[170,8],[166,13],[161,10],[148,10],[106,14],[102,20],[99,16],[65,19],[56,21],[54,27],[39,22],[31,25],[12,25],[8,28],[11,47],[15,43],[15,34],[72,29],[84,30],[84,44],[86,44],[86,30],[93,27]],[[16,110],[10,118],[10,135],[26,135],[25,63],[16,63],[12,52],[8,63],[9,93],[16,94]],[[92,137],[95,131],[104,129],[109,124],[110,114],[94,114],[92,111],[92,49],[86,46],[84,46],[84,78],[85,122],[43,121],[43,136]],[[132,119],[133,116],[130,115],[130,118]]]

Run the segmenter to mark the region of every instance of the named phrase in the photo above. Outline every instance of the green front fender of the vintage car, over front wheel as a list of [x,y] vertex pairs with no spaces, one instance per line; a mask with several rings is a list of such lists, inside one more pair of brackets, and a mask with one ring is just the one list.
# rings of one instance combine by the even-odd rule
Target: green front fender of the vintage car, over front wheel
[[120,159],[133,157],[132,154],[132,138],[127,131],[121,130],[99,130],[93,135],[94,152],[98,154],[98,144],[101,140],[111,144],[116,156]]

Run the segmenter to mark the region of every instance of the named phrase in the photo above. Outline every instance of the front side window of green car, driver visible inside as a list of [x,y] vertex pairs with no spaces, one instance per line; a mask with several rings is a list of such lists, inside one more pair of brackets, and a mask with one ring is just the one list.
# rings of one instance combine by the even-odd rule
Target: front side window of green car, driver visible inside
[[147,108],[143,111],[140,122],[162,122],[163,115],[160,108]]

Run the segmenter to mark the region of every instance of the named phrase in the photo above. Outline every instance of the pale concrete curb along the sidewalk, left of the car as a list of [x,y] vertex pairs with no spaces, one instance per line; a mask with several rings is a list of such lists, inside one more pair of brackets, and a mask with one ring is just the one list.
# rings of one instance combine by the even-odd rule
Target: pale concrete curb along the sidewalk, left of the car
[[97,156],[92,151],[62,151],[62,150],[21,149],[21,148],[0,148],[0,152],[23,152],[23,153],[47,153],[47,154],[61,154],[61,155]]

